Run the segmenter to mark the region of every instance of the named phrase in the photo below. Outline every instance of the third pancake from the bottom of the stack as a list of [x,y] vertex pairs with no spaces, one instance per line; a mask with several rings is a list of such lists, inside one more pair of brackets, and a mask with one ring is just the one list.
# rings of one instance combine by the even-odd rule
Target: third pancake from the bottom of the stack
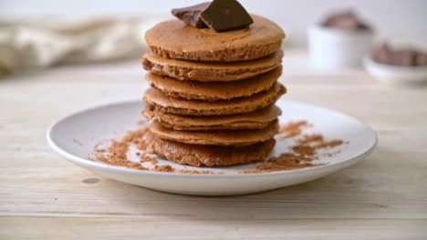
[[280,114],[281,111],[276,105],[240,115],[172,115],[149,106],[145,106],[142,111],[142,115],[147,119],[156,121],[163,127],[186,131],[259,129],[275,121]]

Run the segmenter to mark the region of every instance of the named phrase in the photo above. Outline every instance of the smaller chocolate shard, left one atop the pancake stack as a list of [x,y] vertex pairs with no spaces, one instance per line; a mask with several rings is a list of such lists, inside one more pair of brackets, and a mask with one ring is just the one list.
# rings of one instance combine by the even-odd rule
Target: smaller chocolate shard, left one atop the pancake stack
[[200,18],[203,10],[206,9],[211,3],[206,2],[200,5],[191,5],[182,8],[173,8],[172,15],[178,17],[182,22],[187,25],[193,25],[197,28],[207,27]]

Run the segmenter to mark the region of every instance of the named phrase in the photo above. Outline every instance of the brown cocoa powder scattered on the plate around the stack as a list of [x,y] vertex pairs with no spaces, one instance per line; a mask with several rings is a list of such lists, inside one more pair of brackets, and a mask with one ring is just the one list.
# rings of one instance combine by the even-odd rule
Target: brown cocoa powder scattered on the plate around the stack
[[[324,139],[324,136],[321,134],[301,135],[302,131],[309,126],[311,125],[304,120],[289,122],[285,125],[281,125],[279,132],[280,134],[282,134],[282,136],[279,137],[301,136],[299,139],[296,140],[296,145],[291,146],[291,152],[270,157],[265,162],[256,165],[255,170],[240,171],[239,174],[269,173],[275,171],[285,171],[323,165],[312,163],[312,161],[318,159],[318,150],[342,145],[343,141],[338,139],[326,141]],[[149,170],[155,172],[177,172],[182,174],[207,175],[224,174],[224,172],[213,172],[209,170],[175,170],[171,165],[157,165],[158,161],[156,159],[144,153],[147,145],[142,139],[147,130],[147,125],[144,125],[138,130],[130,131],[120,140],[112,140],[111,144],[107,148],[100,148],[99,145],[101,144],[99,143],[99,145],[96,145],[95,148],[96,159],[89,159],[94,161],[100,161],[109,165],[118,165],[133,169]],[[132,162],[129,160],[127,155],[130,149],[130,145],[135,145],[139,150],[141,150],[141,152],[136,153],[136,155],[140,156],[140,162]],[[337,153],[339,153],[339,151],[336,151],[334,153],[324,153],[323,155],[332,156]],[[149,168],[141,165],[141,163],[144,162],[151,162],[151,165],[153,165],[153,167]]]

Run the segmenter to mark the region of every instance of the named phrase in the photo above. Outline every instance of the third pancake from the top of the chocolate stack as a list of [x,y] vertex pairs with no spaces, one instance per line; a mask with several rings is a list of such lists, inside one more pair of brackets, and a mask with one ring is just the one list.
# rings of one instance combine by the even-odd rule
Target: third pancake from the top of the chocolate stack
[[254,77],[233,82],[196,82],[180,81],[168,76],[147,73],[145,80],[152,87],[159,89],[163,94],[172,97],[181,97],[189,100],[203,100],[213,102],[228,100],[235,97],[254,95],[268,90],[276,83],[282,73],[282,67]]

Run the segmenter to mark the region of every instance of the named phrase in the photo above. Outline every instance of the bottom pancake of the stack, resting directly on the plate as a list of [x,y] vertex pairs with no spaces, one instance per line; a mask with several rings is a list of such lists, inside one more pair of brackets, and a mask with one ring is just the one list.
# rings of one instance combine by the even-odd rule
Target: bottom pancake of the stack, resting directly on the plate
[[247,146],[187,145],[162,139],[149,131],[143,140],[146,151],[181,165],[238,165],[264,161],[276,145],[275,139]]

